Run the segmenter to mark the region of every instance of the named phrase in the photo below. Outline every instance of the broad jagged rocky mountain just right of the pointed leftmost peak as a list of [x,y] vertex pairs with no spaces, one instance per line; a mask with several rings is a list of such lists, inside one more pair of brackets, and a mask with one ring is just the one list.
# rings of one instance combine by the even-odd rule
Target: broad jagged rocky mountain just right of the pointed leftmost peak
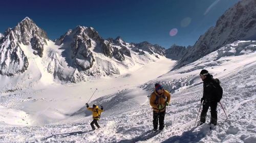
[[151,51],[154,48],[152,45],[143,47],[151,52],[140,49],[135,51],[133,44],[125,42],[120,37],[102,39],[92,27],[77,26],[56,40],[56,44],[63,49],[61,56],[65,58],[67,66],[75,70],[68,76],[67,73],[58,72],[61,70],[58,68],[54,68],[54,73],[58,73],[59,78],[70,77],[66,80],[72,82],[123,74],[136,65],[157,61],[158,55],[164,58],[158,50]]

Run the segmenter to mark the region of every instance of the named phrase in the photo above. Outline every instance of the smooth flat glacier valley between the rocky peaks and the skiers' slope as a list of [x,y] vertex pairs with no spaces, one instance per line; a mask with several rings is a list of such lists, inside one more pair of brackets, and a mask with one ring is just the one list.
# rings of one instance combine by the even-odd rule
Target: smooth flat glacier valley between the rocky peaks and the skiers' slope
[[[32,54],[32,56],[35,55]],[[36,67],[31,68],[35,70],[30,71],[33,74],[27,75],[25,72],[19,76],[19,78],[26,78],[26,82],[15,79],[20,81],[15,83],[15,80],[1,79],[4,84],[8,85],[5,87],[1,84],[1,105],[29,113],[31,119],[29,124],[33,125],[48,124],[67,118],[89,100],[95,88],[98,90],[92,100],[155,79],[172,69],[176,62],[163,58],[143,67],[138,66],[130,69],[129,73],[115,77],[99,78],[76,84],[56,84],[50,73],[47,71],[40,72],[43,64],[40,63],[39,59],[38,56],[34,59],[29,57],[31,63],[35,63]],[[159,68],[162,70],[156,70]],[[9,90],[11,87],[13,90]]]

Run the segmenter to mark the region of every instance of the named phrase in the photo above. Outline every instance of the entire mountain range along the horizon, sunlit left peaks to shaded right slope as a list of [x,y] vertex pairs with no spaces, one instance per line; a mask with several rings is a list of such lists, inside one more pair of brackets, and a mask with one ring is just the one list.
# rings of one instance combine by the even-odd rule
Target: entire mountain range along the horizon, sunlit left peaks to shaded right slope
[[195,45],[174,44],[169,49],[146,41],[127,43],[121,37],[103,39],[93,27],[80,25],[51,41],[44,30],[26,17],[0,34],[0,74],[15,76],[27,71],[35,58],[28,58],[31,52],[44,63],[40,69],[63,81],[79,82],[121,74],[135,65],[145,65],[164,56],[177,61],[175,70],[226,44],[255,40],[255,5],[253,0],[240,1],[218,19],[216,26],[200,36]]

